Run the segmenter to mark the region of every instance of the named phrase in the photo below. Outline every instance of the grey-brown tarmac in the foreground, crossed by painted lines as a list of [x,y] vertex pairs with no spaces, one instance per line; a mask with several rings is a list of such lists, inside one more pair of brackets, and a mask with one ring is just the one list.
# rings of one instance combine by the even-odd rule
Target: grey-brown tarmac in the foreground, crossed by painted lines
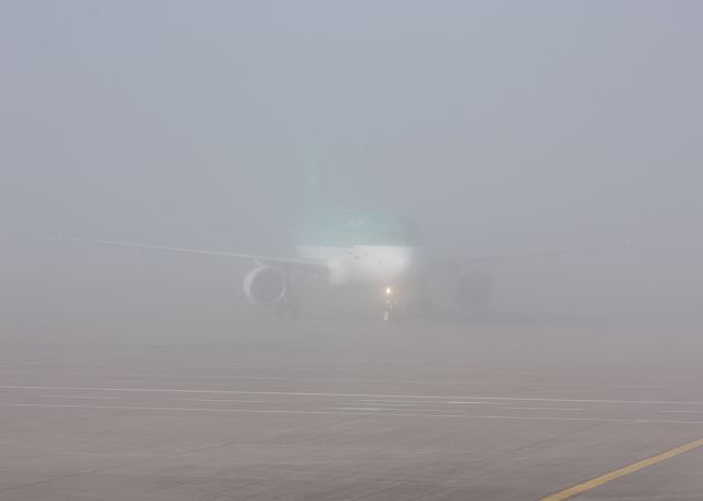
[[[703,437],[693,329],[15,326],[0,337],[2,501],[540,500]],[[701,472],[693,448],[574,499],[703,500]]]

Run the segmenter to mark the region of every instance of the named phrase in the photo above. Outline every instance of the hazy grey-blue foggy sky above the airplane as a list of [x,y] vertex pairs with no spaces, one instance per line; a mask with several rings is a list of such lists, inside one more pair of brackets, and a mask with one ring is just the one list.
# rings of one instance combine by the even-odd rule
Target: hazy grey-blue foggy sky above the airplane
[[293,223],[314,135],[331,198],[469,254],[626,235],[695,266],[702,25],[696,1],[5,0],[2,243]]

